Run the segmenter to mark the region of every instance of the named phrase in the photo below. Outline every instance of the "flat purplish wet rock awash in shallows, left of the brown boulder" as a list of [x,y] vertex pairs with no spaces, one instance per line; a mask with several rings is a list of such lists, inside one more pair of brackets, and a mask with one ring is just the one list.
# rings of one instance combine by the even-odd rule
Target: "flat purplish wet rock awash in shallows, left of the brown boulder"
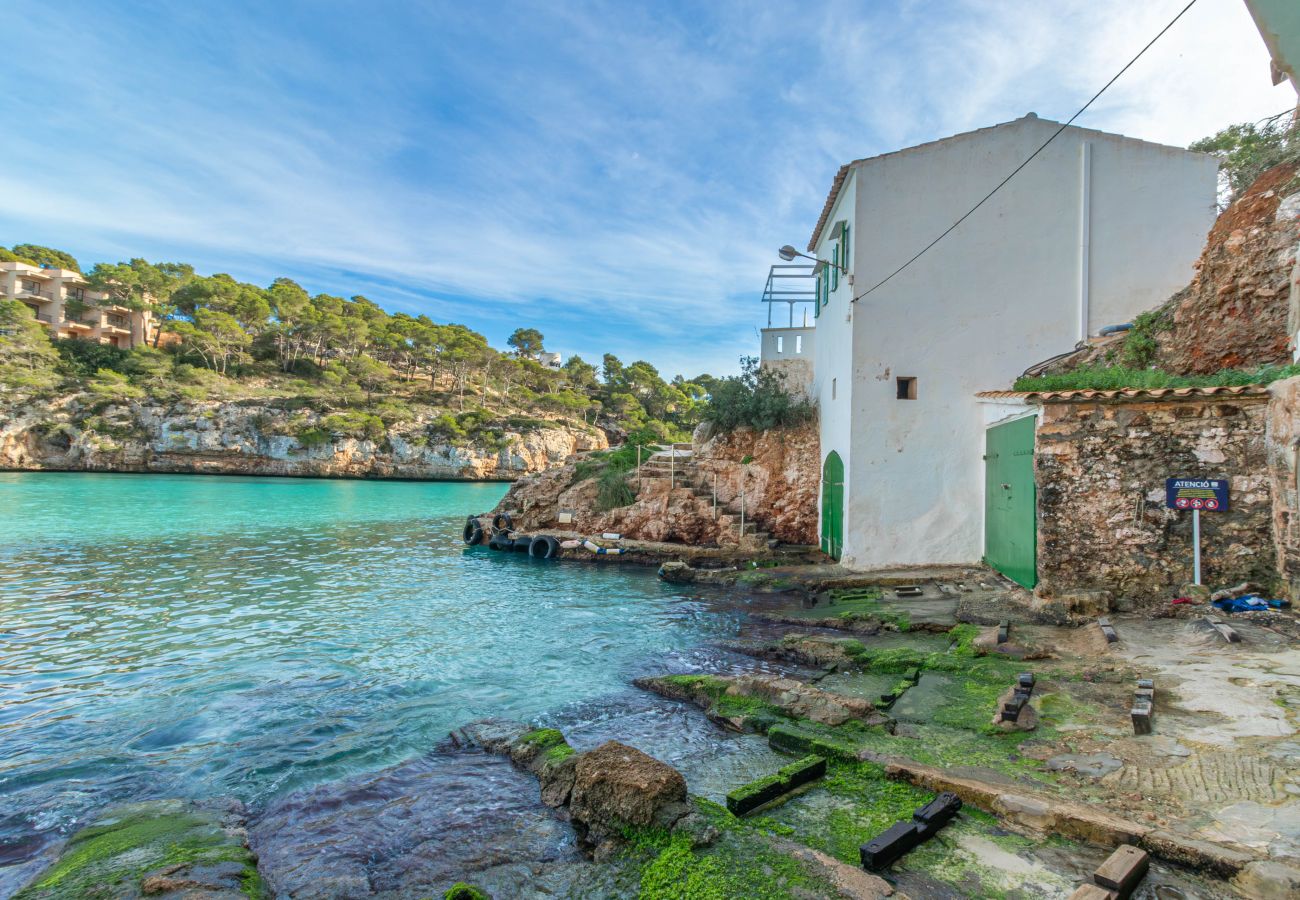
[[564,896],[590,864],[537,783],[502,756],[433,753],[274,800],[250,826],[277,896]]

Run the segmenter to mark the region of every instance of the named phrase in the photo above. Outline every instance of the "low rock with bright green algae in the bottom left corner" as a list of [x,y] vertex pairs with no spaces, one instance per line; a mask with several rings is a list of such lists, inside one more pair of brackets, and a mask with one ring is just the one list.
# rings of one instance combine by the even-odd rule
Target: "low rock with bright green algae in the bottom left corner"
[[157,800],[108,810],[16,897],[261,897],[243,808]]

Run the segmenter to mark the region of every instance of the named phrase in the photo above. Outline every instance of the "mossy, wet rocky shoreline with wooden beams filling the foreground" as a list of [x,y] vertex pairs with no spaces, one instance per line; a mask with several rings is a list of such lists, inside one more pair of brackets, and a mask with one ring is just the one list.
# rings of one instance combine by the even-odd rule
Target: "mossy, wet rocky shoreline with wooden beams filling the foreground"
[[[532,724],[476,722],[252,813],[166,801],[165,828],[140,806],[108,813],[18,896],[82,896],[98,879],[112,896],[1065,897],[1115,844],[1149,854],[1143,896],[1292,895],[1300,682],[1258,678],[1294,666],[1295,616],[1234,622],[1242,650],[1195,613],[1117,615],[1112,644],[982,587],[979,570],[914,575],[824,588],[822,568],[814,592],[719,596],[750,613],[741,633],[647,661],[624,693]],[[1006,636],[972,623],[979,610]],[[1024,670],[1032,714],[1000,727]],[[1147,737],[1127,715],[1139,676],[1156,684]],[[1222,695],[1210,705],[1206,679]],[[967,808],[863,871],[858,845],[935,791]],[[159,838],[176,828],[188,836]]]

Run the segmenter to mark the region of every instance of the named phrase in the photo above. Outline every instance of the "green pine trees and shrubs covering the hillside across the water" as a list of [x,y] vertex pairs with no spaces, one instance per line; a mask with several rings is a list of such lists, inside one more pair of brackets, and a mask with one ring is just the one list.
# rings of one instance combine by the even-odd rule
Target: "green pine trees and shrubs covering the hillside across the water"
[[[78,268],[62,251],[0,247],[0,259]],[[0,303],[0,389],[34,401],[94,390],[105,399],[259,402],[309,410],[287,432],[304,446],[339,437],[384,440],[396,423],[433,407],[415,441],[500,450],[508,432],[555,423],[601,428],[624,451],[603,470],[628,472],[636,447],[689,438],[720,384],[708,375],[664,380],[651,364],[606,354],[599,367],[572,356],[559,369],[540,362],[536,328],[511,334],[510,351],[464,325],[389,313],[355,295],[309,294],[289,278],[268,286],[229,274],[203,276],[182,263],[133,259],[100,263],[91,287],[124,307],[152,313],[152,346],[118,350],[81,341],[51,342],[21,302]],[[627,479],[602,484],[608,507],[630,502]]]

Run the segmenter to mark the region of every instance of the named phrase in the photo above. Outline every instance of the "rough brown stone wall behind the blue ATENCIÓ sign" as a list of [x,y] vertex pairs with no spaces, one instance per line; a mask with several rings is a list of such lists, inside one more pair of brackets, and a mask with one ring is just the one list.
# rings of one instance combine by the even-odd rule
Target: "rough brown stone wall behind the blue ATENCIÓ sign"
[[1231,510],[1202,514],[1202,581],[1275,579],[1268,395],[1048,402],[1036,450],[1039,588],[1165,601],[1191,580],[1192,518],[1165,480],[1226,477]]

